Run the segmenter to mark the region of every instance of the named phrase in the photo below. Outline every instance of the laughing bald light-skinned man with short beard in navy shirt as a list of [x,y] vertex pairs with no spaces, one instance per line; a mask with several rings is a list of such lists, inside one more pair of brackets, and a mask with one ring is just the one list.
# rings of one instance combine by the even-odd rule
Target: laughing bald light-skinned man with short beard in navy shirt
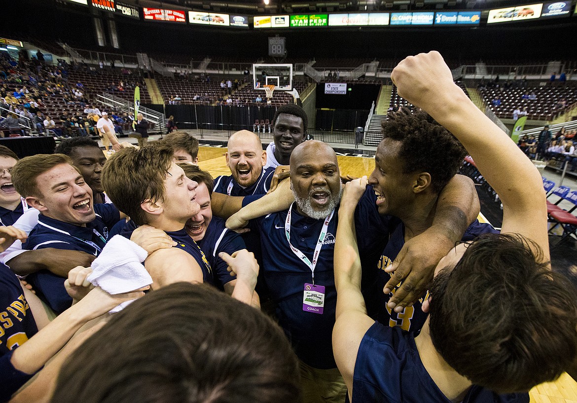
[[274,167],[267,164],[260,138],[253,132],[241,130],[228,139],[226,165],[232,175],[215,179],[214,191],[228,196],[266,195],[271,188]]

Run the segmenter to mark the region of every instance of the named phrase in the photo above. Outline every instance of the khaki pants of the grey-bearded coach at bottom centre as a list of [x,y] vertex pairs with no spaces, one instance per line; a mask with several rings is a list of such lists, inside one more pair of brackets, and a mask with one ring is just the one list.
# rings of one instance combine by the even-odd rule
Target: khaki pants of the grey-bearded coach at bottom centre
[[319,370],[299,360],[304,403],[343,403],[347,386],[338,368]]

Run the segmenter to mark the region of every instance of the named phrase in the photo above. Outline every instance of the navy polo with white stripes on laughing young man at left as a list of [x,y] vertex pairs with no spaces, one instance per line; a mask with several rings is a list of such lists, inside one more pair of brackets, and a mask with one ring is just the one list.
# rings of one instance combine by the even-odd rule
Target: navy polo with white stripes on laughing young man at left
[[[58,221],[40,214],[38,224],[28,235],[23,249],[69,249],[98,256],[108,240],[108,228],[120,219],[120,213],[113,204],[95,204],[96,218],[85,227]],[[27,280],[34,286],[38,296],[57,314],[72,305],[72,298],[64,288],[65,278],[40,270],[28,275]]]

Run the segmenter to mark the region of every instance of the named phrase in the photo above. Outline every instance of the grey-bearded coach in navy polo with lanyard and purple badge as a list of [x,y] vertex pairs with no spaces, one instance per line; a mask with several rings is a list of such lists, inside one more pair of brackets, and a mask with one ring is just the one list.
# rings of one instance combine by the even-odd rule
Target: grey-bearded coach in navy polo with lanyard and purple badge
[[[341,192],[338,162],[331,147],[311,140],[295,148],[290,167],[295,203],[288,210],[256,220],[263,245],[264,279],[278,305],[279,324],[301,361],[304,401],[342,402],[346,387],[336,369],[331,342],[336,307],[335,208]],[[249,204],[234,221],[258,215]],[[452,226],[453,220],[447,218],[447,225]],[[389,226],[394,226],[396,219],[379,215],[370,186],[355,211],[355,223],[359,249],[367,251],[368,259],[376,264],[387,243]],[[415,247],[415,254],[421,246]],[[415,265],[429,264],[428,259],[421,263],[421,257]]]

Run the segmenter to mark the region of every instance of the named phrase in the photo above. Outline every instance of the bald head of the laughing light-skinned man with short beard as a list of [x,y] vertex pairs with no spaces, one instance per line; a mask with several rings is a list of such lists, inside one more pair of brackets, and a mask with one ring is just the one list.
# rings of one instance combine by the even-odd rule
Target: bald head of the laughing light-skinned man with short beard
[[249,130],[240,130],[228,139],[226,165],[234,180],[244,188],[255,184],[267,163],[260,139]]

